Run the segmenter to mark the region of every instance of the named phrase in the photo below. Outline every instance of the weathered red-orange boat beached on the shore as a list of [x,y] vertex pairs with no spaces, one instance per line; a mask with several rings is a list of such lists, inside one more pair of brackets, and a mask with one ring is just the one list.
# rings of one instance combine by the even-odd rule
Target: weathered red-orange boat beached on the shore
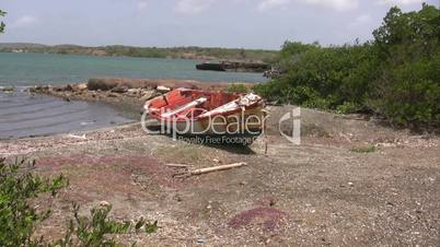
[[[162,131],[233,142],[258,137],[264,127],[264,101],[250,93],[177,89],[148,101],[144,110]],[[243,141],[243,140],[242,140]],[[252,142],[251,142],[252,143]],[[250,144],[250,143],[247,143]]]

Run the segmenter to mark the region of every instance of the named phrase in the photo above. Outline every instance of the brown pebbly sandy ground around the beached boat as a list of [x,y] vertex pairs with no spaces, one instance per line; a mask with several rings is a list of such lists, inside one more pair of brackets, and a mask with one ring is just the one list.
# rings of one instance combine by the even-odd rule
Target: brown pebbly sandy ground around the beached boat
[[[381,127],[359,116],[304,109],[302,143],[277,131],[291,107],[271,107],[264,139],[247,148],[207,146],[148,136],[138,124],[0,142],[0,156],[36,158],[37,172],[65,174],[70,187],[38,234],[59,237],[71,201],[86,213],[101,201],[115,219],[159,222],[127,245],[440,245],[440,140]],[[288,128],[283,128],[287,129]],[[355,148],[374,145],[358,153]],[[245,167],[186,178],[182,170],[246,162]]]

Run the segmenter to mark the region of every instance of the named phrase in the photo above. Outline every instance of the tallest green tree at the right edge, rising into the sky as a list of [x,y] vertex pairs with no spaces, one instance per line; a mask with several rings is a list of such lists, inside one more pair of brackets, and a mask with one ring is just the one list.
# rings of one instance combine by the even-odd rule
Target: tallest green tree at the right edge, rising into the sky
[[392,8],[373,32],[381,59],[375,106],[392,121],[440,126],[440,12]]

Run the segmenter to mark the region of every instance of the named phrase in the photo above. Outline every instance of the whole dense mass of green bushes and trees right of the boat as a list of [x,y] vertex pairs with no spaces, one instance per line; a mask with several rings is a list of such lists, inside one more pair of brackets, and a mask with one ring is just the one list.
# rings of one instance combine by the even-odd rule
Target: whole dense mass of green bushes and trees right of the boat
[[279,103],[440,127],[440,10],[394,7],[373,36],[331,47],[287,42],[276,59],[280,75],[255,90]]

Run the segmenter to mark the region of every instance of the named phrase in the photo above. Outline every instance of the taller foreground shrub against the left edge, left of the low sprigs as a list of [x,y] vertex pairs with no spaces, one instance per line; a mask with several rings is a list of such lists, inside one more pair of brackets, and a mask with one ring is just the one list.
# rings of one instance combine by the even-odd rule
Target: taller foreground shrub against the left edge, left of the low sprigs
[[0,158],[0,246],[39,245],[42,239],[33,239],[32,234],[36,224],[50,215],[50,210],[37,212],[28,200],[45,193],[55,197],[68,185],[62,175],[49,180],[32,174],[34,165],[24,160],[5,164]]

